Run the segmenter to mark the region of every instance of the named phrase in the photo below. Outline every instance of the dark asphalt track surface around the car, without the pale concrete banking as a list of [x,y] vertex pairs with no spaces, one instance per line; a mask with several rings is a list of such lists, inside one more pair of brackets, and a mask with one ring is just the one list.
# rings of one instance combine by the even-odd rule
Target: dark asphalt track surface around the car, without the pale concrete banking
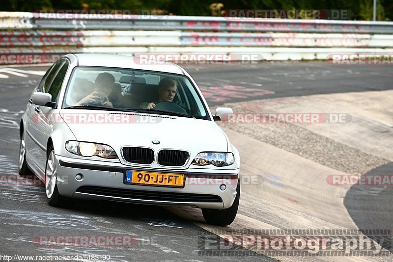
[[[392,89],[393,80],[392,67],[386,65],[330,65],[314,61],[183,67],[197,81],[210,106],[265,98],[388,90]],[[1,175],[17,174],[19,119],[33,87],[41,78],[39,74],[48,68],[0,69]],[[392,174],[392,168],[392,163],[389,163],[370,172]],[[393,189],[389,186],[382,189],[352,186],[344,198],[344,205],[361,229],[393,229],[392,195]],[[242,207],[239,212],[243,213]],[[47,205],[44,188],[39,185],[0,185],[0,224],[1,255],[109,254],[113,262],[239,259],[198,256],[198,233],[203,229],[176,212],[155,206],[97,202],[56,209]],[[138,241],[132,247],[104,248],[40,246],[33,243],[36,236],[55,235],[132,235]],[[271,259],[250,256],[241,257],[241,260]]]

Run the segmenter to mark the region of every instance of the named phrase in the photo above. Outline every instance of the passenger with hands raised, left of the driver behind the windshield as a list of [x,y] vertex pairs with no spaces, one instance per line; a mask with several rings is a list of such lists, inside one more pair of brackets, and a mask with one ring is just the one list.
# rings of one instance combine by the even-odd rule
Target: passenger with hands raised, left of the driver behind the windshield
[[75,105],[103,105],[113,107],[108,95],[114,85],[114,77],[109,73],[100,73],[94,81],[94,91]]

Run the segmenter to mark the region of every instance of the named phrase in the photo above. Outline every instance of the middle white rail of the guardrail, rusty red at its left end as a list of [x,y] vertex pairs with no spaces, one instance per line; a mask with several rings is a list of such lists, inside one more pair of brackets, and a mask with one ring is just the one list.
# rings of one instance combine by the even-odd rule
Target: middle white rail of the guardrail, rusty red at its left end
[[180,31],[0,31],[0,47],[393,47],[393,35]]

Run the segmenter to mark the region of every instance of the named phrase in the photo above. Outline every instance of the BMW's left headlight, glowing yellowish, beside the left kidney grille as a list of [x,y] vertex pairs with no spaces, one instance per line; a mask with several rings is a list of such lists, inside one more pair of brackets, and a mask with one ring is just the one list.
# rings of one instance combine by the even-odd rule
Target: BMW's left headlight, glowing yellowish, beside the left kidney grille
[[108,145],[95,144],[88,142],[67,141],[65,149],[68,152],[82,156],[82,157],[104,157],[104,158],[117,158],[116,152]]

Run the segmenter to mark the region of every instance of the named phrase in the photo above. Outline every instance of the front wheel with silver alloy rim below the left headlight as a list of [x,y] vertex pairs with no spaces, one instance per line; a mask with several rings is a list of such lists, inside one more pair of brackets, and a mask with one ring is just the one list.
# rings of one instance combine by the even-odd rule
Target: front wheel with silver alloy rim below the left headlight
[[45,193],[48,204],[53,207],[63,207],[65,198],[62,197],[57,190],[57,166],[55,150],[51,145],[48,149],[46,168],[45,168]]

